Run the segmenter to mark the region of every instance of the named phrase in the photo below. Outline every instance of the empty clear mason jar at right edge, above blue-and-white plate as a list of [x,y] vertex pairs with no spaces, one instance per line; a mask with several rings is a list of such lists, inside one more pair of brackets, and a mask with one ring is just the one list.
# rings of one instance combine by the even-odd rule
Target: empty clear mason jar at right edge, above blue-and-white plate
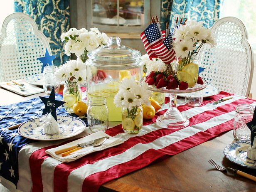
[[234,118],[233,135],[236,140],[250,140],[251,130],[246,123],[249,123],[254,115],[254,106],[249,104],[239,104],[236,106]]

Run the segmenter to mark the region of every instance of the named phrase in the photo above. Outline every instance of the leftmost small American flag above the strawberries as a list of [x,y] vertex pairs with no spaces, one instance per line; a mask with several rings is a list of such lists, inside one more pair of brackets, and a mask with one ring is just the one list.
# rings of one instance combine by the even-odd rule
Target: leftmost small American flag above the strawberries
[[157,58],[154,52],[150,49],[151,46],[156,46],[162,42],[162,36],[156,23],[150,24],[145,31],[140,34],[140,38],[146,49],[149,58]]

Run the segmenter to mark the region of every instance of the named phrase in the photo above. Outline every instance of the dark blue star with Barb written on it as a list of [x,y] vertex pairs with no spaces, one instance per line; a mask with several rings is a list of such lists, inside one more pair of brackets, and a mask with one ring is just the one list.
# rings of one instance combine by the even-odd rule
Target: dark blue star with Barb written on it
[[52,88],[52,92],[51,92],[49,98],[40,97],[40,96],[39,96],[39,98],[43,101],[43,103],[45,105],[42,115],[51,113],[52,116],[54,117],[54,119],[57,121],[56,108],[58,108],[59,106],[62,106],[66,102],[55,100],[54,88]]

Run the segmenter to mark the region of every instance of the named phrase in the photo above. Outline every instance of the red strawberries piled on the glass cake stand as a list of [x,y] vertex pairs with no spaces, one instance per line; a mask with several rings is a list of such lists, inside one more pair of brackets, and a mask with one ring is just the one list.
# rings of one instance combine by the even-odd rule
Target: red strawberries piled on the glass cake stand
[[[185,81],[177,80],[176,76],[167,75],[165,72],[151,71],[146,77],[146,83],[148,85],[155,85],[157,89],[166,87],[166,89],[177,89],[186,90],[188,84]],[[204,84],[201,77],[198,76],[197,84]]]

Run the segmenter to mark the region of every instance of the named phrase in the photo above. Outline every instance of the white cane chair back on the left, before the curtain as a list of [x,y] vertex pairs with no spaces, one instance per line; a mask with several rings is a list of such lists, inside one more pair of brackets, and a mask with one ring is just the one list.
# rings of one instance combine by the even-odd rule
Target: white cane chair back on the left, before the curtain
[[52,55],[49,42],[34,20],[16,12],[3,22],[0,34],[0,82],[23,79],[41,73],[45,49]]

